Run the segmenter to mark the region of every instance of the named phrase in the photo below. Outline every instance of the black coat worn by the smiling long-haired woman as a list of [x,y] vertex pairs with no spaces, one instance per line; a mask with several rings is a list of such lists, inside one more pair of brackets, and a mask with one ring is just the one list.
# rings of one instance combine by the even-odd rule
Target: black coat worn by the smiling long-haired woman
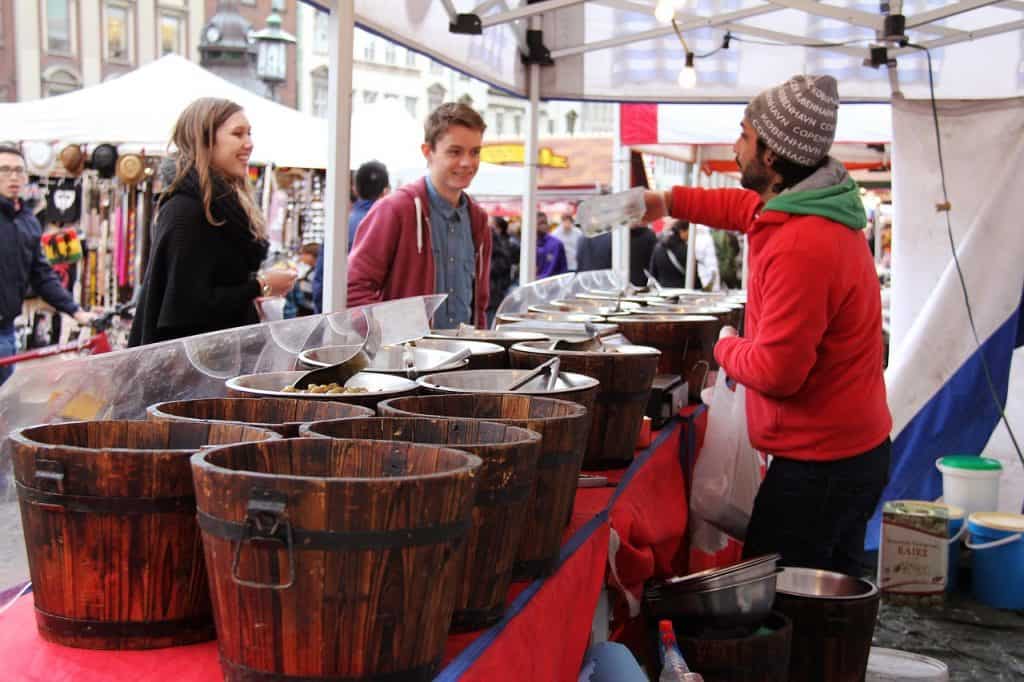
[[206,219],[195,171],[161,199],[128,345],[137,346],[259,322],[256,271],[267,244],[256,240],[233,191],[215,183]]

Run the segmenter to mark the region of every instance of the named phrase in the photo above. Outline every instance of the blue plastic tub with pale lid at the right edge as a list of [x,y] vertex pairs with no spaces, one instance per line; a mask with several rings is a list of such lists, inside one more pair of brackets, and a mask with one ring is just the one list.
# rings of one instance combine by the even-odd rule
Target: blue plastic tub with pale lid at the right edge
[[1024,516],[977,512],[967,525],[975,599],[995,608],[1024,608]]

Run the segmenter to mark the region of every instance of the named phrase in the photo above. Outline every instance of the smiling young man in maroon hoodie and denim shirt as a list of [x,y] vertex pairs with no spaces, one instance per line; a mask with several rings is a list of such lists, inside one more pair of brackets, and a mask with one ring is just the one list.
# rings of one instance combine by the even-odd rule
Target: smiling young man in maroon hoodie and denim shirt
[[462,103],[427,117],[427,175],[379,200],[362,219],[348,255],[348,305],[447,294],[434,327],[486,326],[490,229],[464,191],[480,167],[485,129]]

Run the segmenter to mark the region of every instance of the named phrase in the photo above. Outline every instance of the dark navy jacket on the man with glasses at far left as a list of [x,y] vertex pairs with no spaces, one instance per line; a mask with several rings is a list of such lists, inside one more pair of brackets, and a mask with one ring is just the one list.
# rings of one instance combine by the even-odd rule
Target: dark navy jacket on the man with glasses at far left
[[60,312],[73,314],[78,304],[50,267],[39,243],[43,228],[26,204],[0,197],[0,328],[22,312],[22,301],[33,291]]

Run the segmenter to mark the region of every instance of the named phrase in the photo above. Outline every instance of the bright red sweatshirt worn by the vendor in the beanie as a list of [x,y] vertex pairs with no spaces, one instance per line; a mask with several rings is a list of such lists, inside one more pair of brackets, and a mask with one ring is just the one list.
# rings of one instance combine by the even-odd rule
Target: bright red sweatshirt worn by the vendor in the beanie
[[719,341],[715,358],[748,388],[751,443],[795,460],[865,453],[892,429],[870,251],[834,219],[762,210],[745,189],[672,193],[672,215],[748,238],[743,337]]

